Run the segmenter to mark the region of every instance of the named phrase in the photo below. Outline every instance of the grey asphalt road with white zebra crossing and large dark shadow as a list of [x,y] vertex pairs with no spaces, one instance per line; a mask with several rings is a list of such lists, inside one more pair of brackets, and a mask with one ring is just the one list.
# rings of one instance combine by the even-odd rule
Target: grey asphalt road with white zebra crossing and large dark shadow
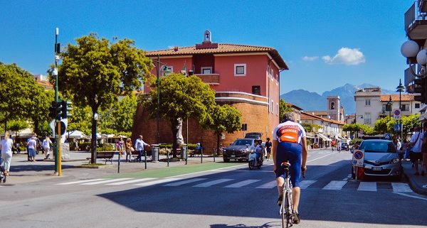
[[[349,179],[351,157],[348,151],[309,153],[302,182],[302,222],[294,227],[425,227],[426,196],[412,192],[405,180]],[[85,176],[5,186],[0,188],[0,224],[280,227],[272,171],[271,161],[267,161],[261,170],[236,163],[167,178],[157,170],[140,178]]]

